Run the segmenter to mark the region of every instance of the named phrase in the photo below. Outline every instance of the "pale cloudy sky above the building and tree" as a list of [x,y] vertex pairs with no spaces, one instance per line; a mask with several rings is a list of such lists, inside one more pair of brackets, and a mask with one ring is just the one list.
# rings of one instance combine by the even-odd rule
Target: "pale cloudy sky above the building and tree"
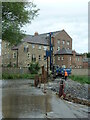
[[39,16],[24,26],[26,34],[64,29],[72,38],[72,49],[88,52],[88,0],[33,0]]

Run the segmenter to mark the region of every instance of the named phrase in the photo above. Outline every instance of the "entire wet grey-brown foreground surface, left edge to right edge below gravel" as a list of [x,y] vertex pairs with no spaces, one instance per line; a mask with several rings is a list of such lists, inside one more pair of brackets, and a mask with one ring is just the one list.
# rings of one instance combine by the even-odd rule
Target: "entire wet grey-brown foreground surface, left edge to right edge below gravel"
[[1,82],[1,118],[88,118],[87,106],[61,100],[52,91],[44,94],[30,80]]

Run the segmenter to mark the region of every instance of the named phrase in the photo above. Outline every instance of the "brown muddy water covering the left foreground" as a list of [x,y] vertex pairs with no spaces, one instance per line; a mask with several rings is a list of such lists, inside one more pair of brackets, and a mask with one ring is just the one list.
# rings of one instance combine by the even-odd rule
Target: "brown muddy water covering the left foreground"
[[44,118],[51,111],[51,96],[31,87],[30,82],[2,82],[3,118]]

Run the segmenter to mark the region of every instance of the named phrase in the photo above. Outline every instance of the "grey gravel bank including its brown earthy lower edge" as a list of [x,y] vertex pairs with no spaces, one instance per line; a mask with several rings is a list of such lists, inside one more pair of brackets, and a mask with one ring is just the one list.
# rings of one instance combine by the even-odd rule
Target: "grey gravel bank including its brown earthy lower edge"
[[[54,81],[47,83],[46,89],[52,90],[58,95],[60,80],[60,78],[57,78]],[[66,94],[65,99],[67,101],[90,106],[90,96],[88,94],[90,92],[90,85],[80,84],[76,81],[68,79],[67,81],[65,81],[64,92]]]

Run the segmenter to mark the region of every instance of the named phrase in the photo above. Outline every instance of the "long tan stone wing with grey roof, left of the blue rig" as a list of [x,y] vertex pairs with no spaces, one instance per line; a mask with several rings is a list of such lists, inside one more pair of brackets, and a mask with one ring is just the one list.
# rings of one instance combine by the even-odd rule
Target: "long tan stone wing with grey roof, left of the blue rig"
[[[3,66],[28,67],[30,62],[39,62],[41,66],[46,66],[45,54],[49,48],[47,41],[42,39],[38,41],[38,37],[25,39],[17,46],[10,47],[6,42],[2,42],[2,63]],[[45,42],[44,42],[45,41]],[[7,46],[7,47],[6,47]]]

